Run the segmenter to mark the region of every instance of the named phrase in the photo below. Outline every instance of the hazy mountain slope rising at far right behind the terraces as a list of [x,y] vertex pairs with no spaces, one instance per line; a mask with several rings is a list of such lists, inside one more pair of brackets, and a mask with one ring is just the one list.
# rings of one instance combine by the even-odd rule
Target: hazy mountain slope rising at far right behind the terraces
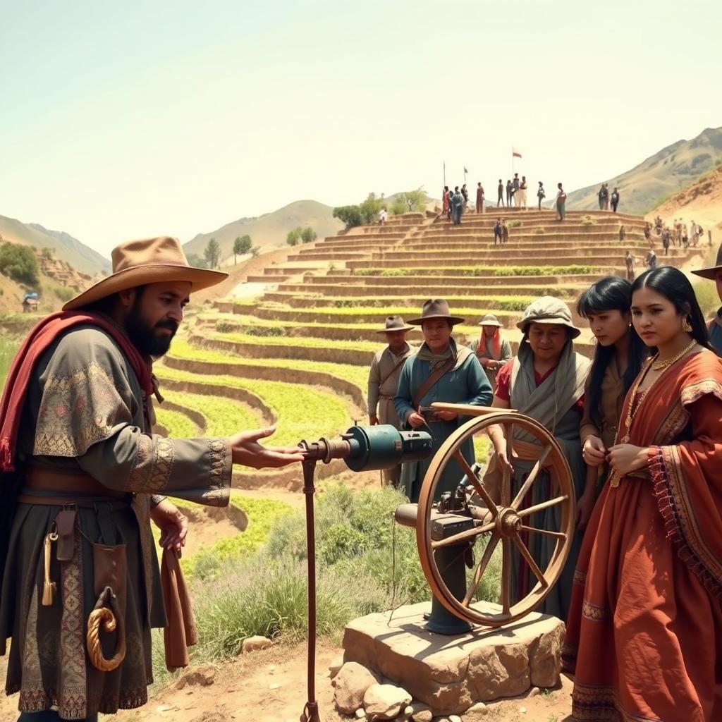
[[682,188],[694,183],[722,163],[722,128],[707,128],[695,139],[679,140],[648,157],[632,170],[580,188],[567,196],[567,208],[599,208],[597,193],[601,183],[609,192],[619,188],[619,210],[645,214]]

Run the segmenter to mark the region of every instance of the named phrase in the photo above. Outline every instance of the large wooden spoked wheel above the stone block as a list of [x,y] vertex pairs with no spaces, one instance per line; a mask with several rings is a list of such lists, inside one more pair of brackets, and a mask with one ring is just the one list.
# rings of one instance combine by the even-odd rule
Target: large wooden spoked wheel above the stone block
[[[432,593],[449,612],[472,624],[500,627],[520,619],[539,606],[562,573],[572,544],[575,525],[575,494],[572,474],[557,441],[539,422],[530,417],[489,407],[458,404],[434,404],[434,406],[461,414],[476,414],[477,418],[470,419],[449,436],[432,459],[424,478],[417,510],[419,559]],[[539,443],[541,452],[536,461],[533,458],[528,459],[533,466],[526,479],[519,479],[517,483],[508,471],[502,474],[497,502],[492,499],[489,490],[484,487],[482,479],[474,473],[461,453],[461,448],[466,440],[481,434],[495,424],[503,427],[508,458],[518,458],[513,448],[513,430],[515,428],[523,429],[532,435]],[[521,444],[519,445],[521,446]],[[441,475],[451,459],[458,462],[471,482],[467,487],[466,511],[451,513],[471,516],[473,526],[471,529],[435,541],[431,534],[432,517],[438,515],[438,505],[435,505],[433,500]],[[541,474],[542,470],[547,473]],[[543,500],[539,500],[537,494],[536,503],[529,503],[529,498],[534,492],[534,484],[535,482],[539,483],[539,479],[544,479],[545,489],[550,493],[545,495],[546,498]],[[516,493],[512,495],[515,485]],[[539,492],[539,489],[536,491]],[[557,513],[552,515],[556,519],[552,525],[554,528],[549,528],[549,524],[546,524],[544,529],[531,526],[534,515],[550,508],[557,510]],[[549,541],[549,539],[554,541],[551,554],[547,554],[548,558],[543,565],[544,568],[540,568],[529,549],[531,545],[529,542],[537,534],[547,537],[545,541]],[[460,544],[461,553],[466,552],[467,558],[471,558],[468,556],[469,547],[481,548],[484,541],[486,545],[479,562],[472,567],[473,573],[470,576],[466,595],[464,599],[456,599],[443,580],[443,570],[440,570],[437,565],[435,551],[440,547]],[[466,542],[466,546],[464,546],[464,542]],[[484,605],[486,609],[477,608],[474,599],[479,582],[499,544],[502,549],[499,599],[502,611],[494,613],[487,611],[488,605]],[[514,549],[516,549],[516,555]],[[516,562],[513,561],[513,556],[516,556]],[[536,585],[531,586],[519,599],[516,599],[518,595],[515,596],[512,589],[514,563],[518,564],[518,568],[526,565],[526,570],[529,570],[527,573],[531,573],[532,580],[536,581]]]

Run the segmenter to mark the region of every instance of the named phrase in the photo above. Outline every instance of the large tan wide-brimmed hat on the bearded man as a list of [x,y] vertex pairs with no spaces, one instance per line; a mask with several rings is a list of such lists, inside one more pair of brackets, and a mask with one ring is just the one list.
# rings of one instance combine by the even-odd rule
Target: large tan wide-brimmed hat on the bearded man
[[224,271],[189,266],[181,242],[168,236],[121,243],[113,248],[111,258],[113,273],[71,298],[63,310],[82,308],[118,291],[148,283],[188,281],[193,292],[214,286],[228,277]]

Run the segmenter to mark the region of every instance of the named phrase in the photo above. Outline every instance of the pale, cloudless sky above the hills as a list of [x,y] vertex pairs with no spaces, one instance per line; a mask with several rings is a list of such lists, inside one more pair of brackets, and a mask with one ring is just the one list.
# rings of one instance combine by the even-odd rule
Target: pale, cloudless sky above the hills
[[[0,0],[0,214],[109,254],[516,170],[567,191],[722,126],[722,3]],[[530,193],[531,195],[531,193]]]

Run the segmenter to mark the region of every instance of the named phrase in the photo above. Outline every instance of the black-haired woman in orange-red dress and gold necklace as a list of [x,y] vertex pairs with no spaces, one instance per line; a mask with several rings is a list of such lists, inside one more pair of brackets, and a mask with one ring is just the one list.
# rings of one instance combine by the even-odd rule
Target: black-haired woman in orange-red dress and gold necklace
[[575,572],[575,721],[722,720],[722,361],[687,277],[632,285],[653,357],[627,392]]

